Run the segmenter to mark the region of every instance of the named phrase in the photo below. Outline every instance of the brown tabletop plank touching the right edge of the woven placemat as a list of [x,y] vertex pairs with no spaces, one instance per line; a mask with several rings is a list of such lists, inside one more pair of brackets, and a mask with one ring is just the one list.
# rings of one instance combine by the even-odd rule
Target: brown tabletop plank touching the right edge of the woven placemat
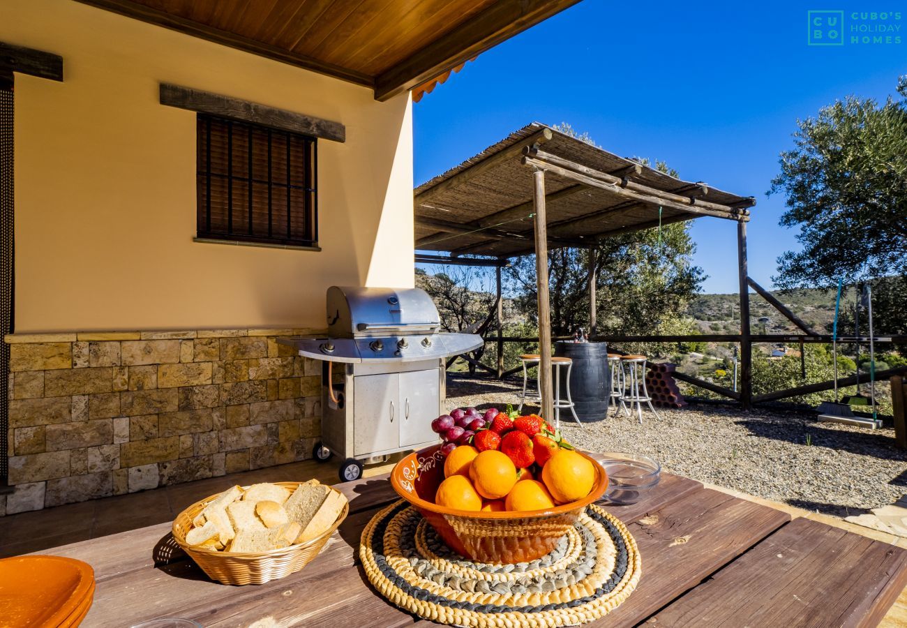
[[628,525],[642,555],[636,591],[590,625],[631,626],[701,583],[790,521],[790,516],[703,488]]

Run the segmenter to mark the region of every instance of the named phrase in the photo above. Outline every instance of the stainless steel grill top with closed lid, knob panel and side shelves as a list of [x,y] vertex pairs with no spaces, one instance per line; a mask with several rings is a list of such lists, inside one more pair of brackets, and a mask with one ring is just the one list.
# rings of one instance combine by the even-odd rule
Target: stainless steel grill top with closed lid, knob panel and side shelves
[[441,333],[431,297],[417,288],[327,289],[326,338],[280,339],[300,355],[333,362],[409,362],[483,346],[476,334]]

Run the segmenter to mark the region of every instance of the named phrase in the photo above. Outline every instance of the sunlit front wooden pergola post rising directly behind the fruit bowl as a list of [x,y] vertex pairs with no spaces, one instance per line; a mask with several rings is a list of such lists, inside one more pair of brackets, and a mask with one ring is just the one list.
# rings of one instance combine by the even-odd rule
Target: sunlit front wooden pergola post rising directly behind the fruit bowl
[[551,307],[548,302],[548,228],[545,217],[545,172],[532,172],[532,205],[535,214],[535,275],[539,301],[539,391],[541,416],[554,418],[551,397]]

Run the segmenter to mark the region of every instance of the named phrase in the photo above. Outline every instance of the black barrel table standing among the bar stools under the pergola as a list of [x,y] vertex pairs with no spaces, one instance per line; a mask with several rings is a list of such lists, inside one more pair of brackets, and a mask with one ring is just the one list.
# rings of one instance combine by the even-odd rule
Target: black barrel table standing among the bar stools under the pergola
[[[580,421],[600,421],[608,415],[611,379],[608,343],[563,340],[554,345],[554,355],[571,358],[570,394]],[[561,368],[561,398],[567,398],[567,369]]]

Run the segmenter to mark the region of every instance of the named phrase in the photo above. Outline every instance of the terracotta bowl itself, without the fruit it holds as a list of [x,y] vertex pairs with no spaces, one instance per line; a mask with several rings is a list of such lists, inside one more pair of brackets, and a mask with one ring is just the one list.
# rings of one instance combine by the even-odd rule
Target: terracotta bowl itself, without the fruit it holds
[[524,563],[549,554],[587,505],[599,499],[608,487],[608,475],[595,460],[595,484],[579,501],[547,510],[520,512],[471,512],[434,503],[434,494],[444,480],[441,446],[414,452],[398,462],[391,472],[397,495],[412,504],[453,551],[480,563]]

